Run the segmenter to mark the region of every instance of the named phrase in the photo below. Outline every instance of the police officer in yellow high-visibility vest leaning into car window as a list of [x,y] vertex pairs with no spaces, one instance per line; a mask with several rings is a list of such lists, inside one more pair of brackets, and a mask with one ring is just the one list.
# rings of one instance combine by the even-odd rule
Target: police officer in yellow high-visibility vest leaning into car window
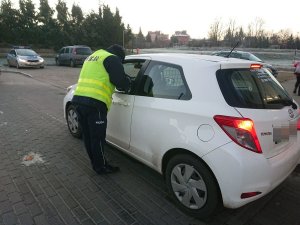
[[104,155],[107,112],[115,87],[129,91],[131,81],[125,74],[124,48],[112,45],[100,49],[84,62],[72,102],[76,105],[83,141],[94,171],[108,174],[119,171],[110,165]]

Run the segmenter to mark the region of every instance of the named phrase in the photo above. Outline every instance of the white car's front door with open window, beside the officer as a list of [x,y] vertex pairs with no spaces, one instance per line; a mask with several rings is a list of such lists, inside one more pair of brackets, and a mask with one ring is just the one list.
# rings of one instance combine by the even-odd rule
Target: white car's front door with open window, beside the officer
[[[124,70],[134,80],[145,60],[130,60],[124,63]],[[131,93],[115,90],[112,105],[107,116],[107,141],[128,151],[131,139],[131,116],[134,107],[134,87]]]

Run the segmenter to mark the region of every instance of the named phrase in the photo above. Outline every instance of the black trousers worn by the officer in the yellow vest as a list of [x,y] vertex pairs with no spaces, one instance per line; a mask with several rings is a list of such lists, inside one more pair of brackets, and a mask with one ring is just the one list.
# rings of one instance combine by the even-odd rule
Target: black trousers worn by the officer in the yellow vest
[[107,111],[86,105],[77,105],[78,121],[83,141],[94,170],[106,164],[104,145],[107,128]]

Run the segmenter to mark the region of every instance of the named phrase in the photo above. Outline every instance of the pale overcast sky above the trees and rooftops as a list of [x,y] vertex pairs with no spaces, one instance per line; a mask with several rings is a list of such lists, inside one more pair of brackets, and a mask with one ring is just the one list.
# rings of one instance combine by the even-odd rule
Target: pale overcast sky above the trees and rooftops
[[[19,0],[11,0],[18,7]],[[36,7],[39,0],[32,0]],[[55,8],[58,0],[48,0]],[[191,38],[207,38],[210,26],[221,21],[227,27],[235,21],[236,27],[247,31],[249,24],[262,19],[263,29],[276,33],[289,30],[300,35],[299,0],[65,0],[69,10],[75,3],[85,14],[97,11],[99,4],[108,5],[112,12],[118,8],[122,21],[130,25],[133,33],[141,29],[146,36],[148,31],[161,31],[171,36],[175,31],[186,30]]]

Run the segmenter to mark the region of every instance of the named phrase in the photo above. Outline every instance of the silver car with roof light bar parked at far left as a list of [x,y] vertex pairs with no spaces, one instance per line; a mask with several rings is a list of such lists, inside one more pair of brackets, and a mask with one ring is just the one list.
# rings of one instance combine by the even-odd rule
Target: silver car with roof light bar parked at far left
[[14,47],[7,54],[7,64],[9,67],[38,67],[44,68],[44,59],[34,50],[28,47]]

